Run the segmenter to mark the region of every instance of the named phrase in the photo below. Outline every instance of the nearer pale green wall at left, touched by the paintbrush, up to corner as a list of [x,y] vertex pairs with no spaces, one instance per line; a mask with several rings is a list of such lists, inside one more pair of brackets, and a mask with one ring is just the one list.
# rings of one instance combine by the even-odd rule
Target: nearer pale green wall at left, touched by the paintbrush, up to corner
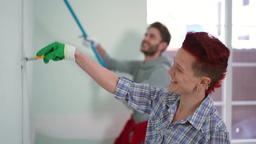
[[0,144],[33,144],[33,1],[2,1],[0,17]]

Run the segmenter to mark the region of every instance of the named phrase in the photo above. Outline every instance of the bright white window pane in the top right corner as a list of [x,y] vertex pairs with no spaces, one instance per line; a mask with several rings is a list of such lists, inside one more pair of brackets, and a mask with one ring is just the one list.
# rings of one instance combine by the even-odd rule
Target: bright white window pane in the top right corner
[[236,49],[256,48],[256,0],[232,0],[232,47]]

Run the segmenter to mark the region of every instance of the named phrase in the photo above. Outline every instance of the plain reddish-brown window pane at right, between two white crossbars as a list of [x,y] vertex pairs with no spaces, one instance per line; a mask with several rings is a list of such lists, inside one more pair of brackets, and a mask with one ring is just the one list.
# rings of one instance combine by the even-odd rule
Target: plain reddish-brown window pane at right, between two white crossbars
[[233,67],[233,101],[256,101],[256,67]]

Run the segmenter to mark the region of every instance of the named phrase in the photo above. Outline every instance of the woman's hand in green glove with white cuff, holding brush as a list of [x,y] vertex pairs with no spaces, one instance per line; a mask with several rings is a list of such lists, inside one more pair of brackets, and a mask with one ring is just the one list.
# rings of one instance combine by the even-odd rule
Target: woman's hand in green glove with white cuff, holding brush
[[43,62],[48,63],[50,59],[59,61],[62,59],[75,61],[75,47],[67,44],[54,42],[39,50],[36,56],[45,56]]

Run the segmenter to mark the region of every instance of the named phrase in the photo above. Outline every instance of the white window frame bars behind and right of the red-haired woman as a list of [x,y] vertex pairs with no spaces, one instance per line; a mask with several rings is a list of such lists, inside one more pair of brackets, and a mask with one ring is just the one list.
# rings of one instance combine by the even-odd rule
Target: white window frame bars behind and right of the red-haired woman
[[[232,106],[233,105],[256,105],[256,101],[232,101],[233,86],[233,67],[256,67],[256,62],[233,62],[232,48],[232,0],[225,1],[224,12],[224,44],[230,49],[230,58],[228,61],[228,71],[223,80],[222,101],[214,101],[215,106],[221,106],[223,120],[230,133],[232,144],[256,144],[256,139],[236,139],[232,140]],[[177,49],[169,49],[177,50]]]

